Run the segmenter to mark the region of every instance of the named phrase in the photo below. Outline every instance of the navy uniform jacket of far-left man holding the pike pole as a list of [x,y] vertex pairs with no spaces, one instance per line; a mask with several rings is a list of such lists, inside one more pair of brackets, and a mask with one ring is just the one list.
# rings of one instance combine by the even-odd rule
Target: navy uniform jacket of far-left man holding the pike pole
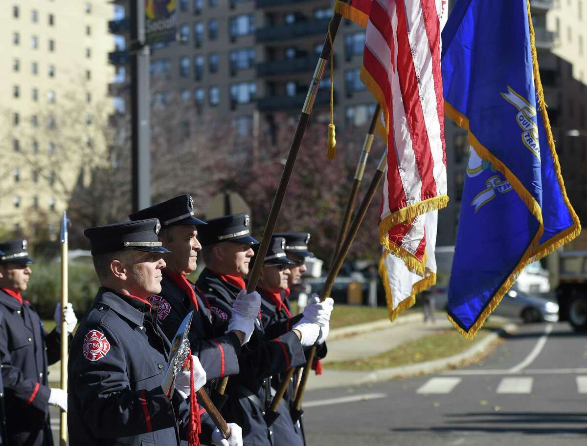
[[0,361],[11,446],[52,445],[47,367],[59,360],[60,335],[47,334],[28,301],[23,304],[0,290]]

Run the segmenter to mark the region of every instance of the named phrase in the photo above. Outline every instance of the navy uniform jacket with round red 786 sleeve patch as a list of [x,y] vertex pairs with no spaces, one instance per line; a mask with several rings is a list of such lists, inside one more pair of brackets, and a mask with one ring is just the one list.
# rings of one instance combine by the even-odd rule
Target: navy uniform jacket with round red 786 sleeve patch
[[70,446],[180,444],[189,410],[161,390],[169,351],[151,305],[100,288],[69,352]]

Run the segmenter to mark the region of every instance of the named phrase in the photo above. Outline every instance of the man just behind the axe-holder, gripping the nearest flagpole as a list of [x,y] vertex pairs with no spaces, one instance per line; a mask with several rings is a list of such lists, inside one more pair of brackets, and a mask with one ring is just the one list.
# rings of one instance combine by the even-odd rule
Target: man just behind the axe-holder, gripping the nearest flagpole
[[130,219],[158,218],[161,222],[158,239],[171,252],[163,254],[167,266],[163,268],[161,292],[149,300],[157,308],[159,324],[168,339],[173,338],[185,315],[194,310],[191,351],[212,380],[238,374],[237,355],[251,337],[261,298],[257,293],[241,297],[246,301],[247,314],[234,313],[230,321],[210,311],[203,293],[186,277],[195,271],[202,248],[196,225],[205,224],[194,217],[193,206],[191,196],[180,195],[135,212]]

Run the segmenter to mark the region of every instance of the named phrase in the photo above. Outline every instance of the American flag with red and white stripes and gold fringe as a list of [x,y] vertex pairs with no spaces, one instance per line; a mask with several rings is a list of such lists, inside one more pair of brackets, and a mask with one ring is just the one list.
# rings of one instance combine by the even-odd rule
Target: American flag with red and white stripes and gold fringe
[[426,230],[416,217],[448,202],[443,8],[446,0],[352,0],[335,6],[346,18],[366,24],[361,79],[383,110],[388,157],[380,241],[420,275],[426,269]]

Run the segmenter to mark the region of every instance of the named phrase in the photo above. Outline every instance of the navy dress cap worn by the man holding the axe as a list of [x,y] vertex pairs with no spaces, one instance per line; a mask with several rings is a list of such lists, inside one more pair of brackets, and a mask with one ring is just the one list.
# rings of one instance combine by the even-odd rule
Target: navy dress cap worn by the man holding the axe
[[83,233],[90,239],[92,256],[129,249],[169,253],[171,251],[161,246],[162,243],[157,239],[160,229],[159,220],[148,219],[90,227]]

